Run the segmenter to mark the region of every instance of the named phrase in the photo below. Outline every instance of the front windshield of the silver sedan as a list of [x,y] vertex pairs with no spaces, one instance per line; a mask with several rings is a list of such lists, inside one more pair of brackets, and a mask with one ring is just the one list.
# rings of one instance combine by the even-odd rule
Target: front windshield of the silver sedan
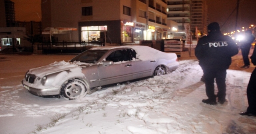
[[96,63],[107,52],[107,50],[86,50],[70,60],[70,62]]

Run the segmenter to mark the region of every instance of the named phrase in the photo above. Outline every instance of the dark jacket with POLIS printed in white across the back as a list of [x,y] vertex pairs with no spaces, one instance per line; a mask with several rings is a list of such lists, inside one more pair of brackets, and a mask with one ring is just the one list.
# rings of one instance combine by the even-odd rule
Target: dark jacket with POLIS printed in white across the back
[[199,65],[204,68],[228,69],[231,57],[238,54],[238,46],[229,36],[220,31],[209,32],[198,40],[195,56]]

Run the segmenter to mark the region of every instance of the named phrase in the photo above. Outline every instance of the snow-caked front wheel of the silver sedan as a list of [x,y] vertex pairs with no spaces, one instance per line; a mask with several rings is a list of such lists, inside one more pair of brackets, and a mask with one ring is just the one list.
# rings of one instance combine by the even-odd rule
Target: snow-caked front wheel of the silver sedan
[[82,80],[68,80],[61,89],[62,97],[74,100],[87,94],[86,84]]

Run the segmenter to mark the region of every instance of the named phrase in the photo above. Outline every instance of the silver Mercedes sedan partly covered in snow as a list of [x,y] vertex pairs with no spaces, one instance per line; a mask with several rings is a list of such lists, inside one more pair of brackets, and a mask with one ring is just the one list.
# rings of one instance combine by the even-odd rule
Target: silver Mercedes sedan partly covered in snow
[[164,75],[178,68],[177,55],[148,46],[106,46],[86,50],[65,62],[26,72],[22,84],[37,96],[84,97],[96,87]]

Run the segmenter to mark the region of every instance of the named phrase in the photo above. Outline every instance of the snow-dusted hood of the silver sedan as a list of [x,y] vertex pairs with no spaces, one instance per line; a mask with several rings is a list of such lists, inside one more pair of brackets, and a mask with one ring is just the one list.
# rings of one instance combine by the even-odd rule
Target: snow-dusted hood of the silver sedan
[[61,62],[54,62],[52,64],[42,66],[39,68],[32,68],[28,71],[28,74],[34,74],[42,78],[45,75],[53,74],[55,72],[62,72],[65,70],[73,70],[73,71],[77,70],[81,72],[82,68],[77,64],[61,61]]

